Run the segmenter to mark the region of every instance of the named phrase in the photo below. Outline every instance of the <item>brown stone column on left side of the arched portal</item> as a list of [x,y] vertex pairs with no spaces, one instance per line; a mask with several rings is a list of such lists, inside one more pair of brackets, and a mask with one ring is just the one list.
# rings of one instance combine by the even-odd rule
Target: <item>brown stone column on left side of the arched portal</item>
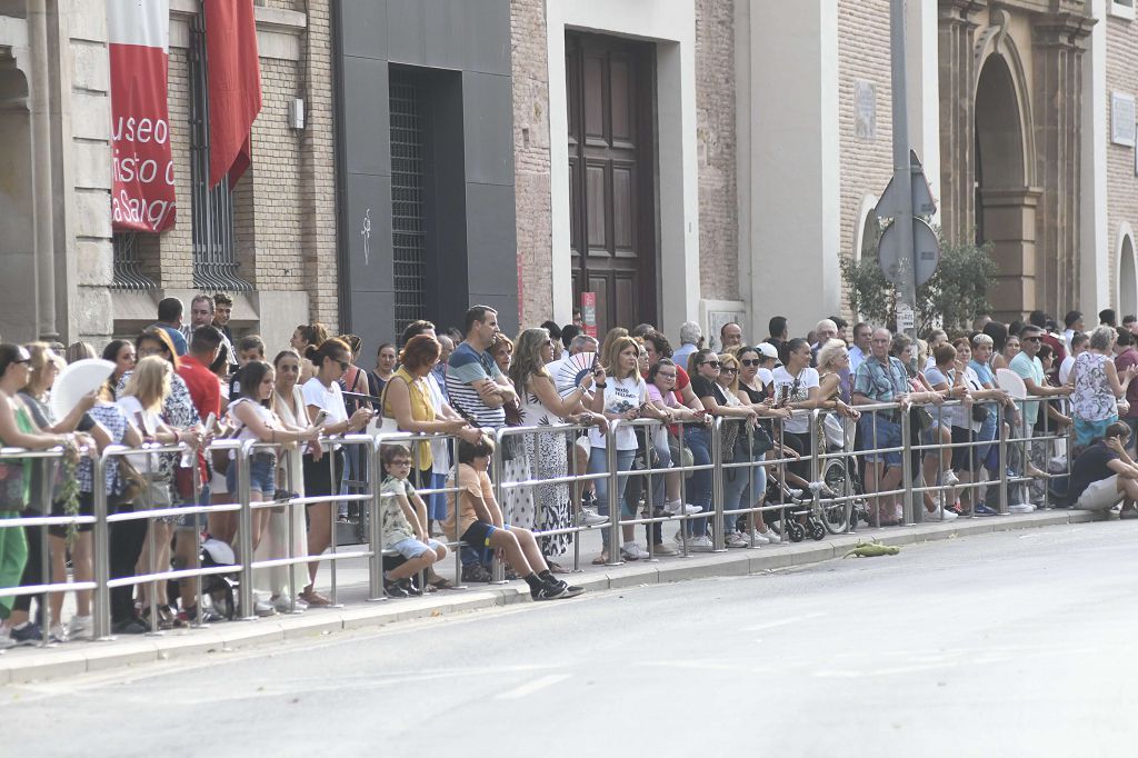
[[940,3],[940,219],[948,238],[968,239],[975,224],[976,60],[973,16],[988,0]]

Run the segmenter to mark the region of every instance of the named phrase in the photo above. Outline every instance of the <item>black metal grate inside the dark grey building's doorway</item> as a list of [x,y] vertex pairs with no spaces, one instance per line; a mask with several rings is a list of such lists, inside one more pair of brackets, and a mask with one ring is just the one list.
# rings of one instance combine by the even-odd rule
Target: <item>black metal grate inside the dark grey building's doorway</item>
[[391,69],[391,247],[395,333],[426,318],[426,114],[420,81]]

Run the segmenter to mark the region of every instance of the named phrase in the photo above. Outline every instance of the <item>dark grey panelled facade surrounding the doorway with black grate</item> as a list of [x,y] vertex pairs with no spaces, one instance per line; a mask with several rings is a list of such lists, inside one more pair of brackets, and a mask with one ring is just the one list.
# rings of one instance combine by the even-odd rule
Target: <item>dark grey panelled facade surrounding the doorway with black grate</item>
[[[427,315],[461,326],[473,303],[517,331],[510,0],[338,0],[341,324],[394,336],[389,65],[434,69],[427,182]],[[368,254],[363,223],[371,209]]]

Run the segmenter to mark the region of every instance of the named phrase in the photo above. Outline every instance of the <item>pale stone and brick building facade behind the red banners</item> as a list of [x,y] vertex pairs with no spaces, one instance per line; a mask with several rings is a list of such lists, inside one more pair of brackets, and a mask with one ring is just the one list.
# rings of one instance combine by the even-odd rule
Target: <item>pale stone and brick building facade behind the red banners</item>
[[[253,127],[253,165],[233,190],[228,255],[246,282],[233,288],[204,277],[200,262],[195,264],[189,132],[191,28],[198,13],[198,0],[171,0],[167,86],[176,224],[162,234],[116,239],[106,6],[27,0],[0,9],[0,75],[11,82],[3,89],[15,88],[2,117],[18,126],[47,110],[44,140],[2,148],[5,163],[26,167],[31,179],[6,188],[0,215],[31,228],[10,236],[32,242],[19,246],[26,253],[8,253],[34,273],[26,281],[36,283],[3,293],[11,304],[0,315],[5,338],[98,345],[152,323],[163,297],[181,297],[188,321],[193,294],[218,289],[233,296],[234,329],[262,332],[271,348],[287,344],[298,323],[321,320],[338,328],[330,2],[255,1],[264,105]],[[289,125],[297,100],[304,104],[303,129]],[[14,217],[19,208],[33,221]]]

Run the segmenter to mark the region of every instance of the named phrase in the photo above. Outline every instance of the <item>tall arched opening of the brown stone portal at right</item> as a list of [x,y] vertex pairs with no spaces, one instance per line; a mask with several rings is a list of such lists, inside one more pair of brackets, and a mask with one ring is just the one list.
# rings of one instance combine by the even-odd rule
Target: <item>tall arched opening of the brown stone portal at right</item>
[[1036,205],[1031,157],[1016,80],[1003,55],[984,60],[976,84],[975,239],[991,242],[999,266],[989,293],[997,318],[1011,320],[1036,306]]

